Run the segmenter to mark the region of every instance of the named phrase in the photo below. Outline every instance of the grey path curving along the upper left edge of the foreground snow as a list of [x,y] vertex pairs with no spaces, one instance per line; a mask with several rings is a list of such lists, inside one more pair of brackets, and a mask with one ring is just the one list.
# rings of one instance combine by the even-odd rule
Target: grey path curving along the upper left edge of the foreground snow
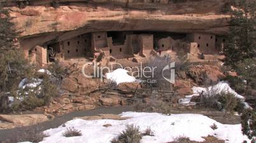
[[[31,127],[38,127],[40,130],[47,130],[49,128],[56,128],[65,123],[66,121],[72,120],[77,116],[96,116],[99,114],[120,114],[125,111],[132,111],[132,107],[130,106],[118,106],[118,107],[101,107],[97,109],[87,110],[87,111],[74,111],[71,113],[67,113],[66,115],[58,116],[51,121],[45,121],[39,123],[38,125],[32,125]],[[3,140],[9,139],[13,132],[17,130],[22,130],[22,128],[12,128],[6,130],[0,130],[0,142]]]

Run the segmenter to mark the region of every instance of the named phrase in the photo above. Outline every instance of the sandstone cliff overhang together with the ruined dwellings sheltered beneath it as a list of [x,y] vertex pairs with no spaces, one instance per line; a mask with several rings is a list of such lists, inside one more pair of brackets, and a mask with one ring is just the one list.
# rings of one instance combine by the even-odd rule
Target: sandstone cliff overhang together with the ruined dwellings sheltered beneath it
[[[101,53],[125,59],[182,50],[197,58],[202,53],[219,54],[225,46],[228,16],[218,15],[225,1],[218,5],[162,0],[53,2],[8,3],[10,7],[19,7],[12,7],[12,15],[20,30],[20,48],[32,63],[40,66],[56,59],[93,60]],[[211,18],[197,15],[213,10]]]

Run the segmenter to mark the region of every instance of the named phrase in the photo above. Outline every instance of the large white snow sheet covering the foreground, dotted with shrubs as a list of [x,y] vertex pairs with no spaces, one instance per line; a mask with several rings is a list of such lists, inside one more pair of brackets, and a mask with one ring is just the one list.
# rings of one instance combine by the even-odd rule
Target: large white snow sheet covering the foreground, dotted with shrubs
[[[248,138],[241,133],[241,125],[225,125],[218,123],[211,118],[197,114],[178,114],[163,115],[160,113],[136,113],[125,112],[121,114],[124,117],[131,117],[127,120],[82,120],[76,119],[65,123],[66,127],[58,127],[46,130],[45,133],[50,135],[41,143],[72,143],[72,142],[90,142],[90,143],[107,143],[117,137],[118,133],[125,129],[125,125],[138,125],[143,131],[150,127],[155,136],[144,136],[141,143],[162,143],[170,142],[176,137],[186,136],[190,140],[203,141],[202,137],[213,135],[225,142],[241,143]],[[217,130],[210,126],[215,123]],[[110,127],[103,127],[105,124],[111,124]],[[62,133],[67,127],[75,127],[81,130],[82,136],[64,137]]]

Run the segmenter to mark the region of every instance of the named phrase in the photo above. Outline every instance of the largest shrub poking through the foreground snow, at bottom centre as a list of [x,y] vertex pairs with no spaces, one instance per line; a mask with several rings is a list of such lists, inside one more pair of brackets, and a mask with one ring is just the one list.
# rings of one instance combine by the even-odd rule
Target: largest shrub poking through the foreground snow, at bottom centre
[[116,139],[113,139],[112,143],[139,143],[142,134],[139,132],[139,127],[136,125],[126,125],[125,130],[120,132]]

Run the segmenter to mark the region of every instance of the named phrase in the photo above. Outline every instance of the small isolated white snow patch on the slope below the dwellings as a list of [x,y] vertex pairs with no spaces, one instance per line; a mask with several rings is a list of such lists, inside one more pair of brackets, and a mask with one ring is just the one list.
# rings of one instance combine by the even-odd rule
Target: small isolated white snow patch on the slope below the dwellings
[[111,82],[116,82],[117,85],[123,82],[135,82],[136,78],[128,75],[127,72],[127,70],[117,68],[117,70],[114,70],[111,73],[106,73],[106,78],[111,80]]

